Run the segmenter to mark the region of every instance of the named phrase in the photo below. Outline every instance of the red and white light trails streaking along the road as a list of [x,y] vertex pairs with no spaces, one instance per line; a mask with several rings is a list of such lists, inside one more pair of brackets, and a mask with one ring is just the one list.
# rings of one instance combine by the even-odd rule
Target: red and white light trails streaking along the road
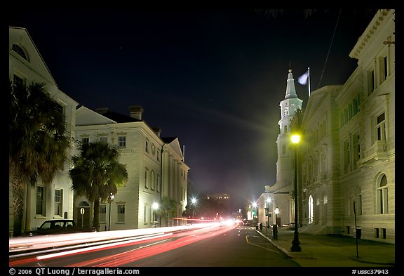
[[[72,263],[67,266],[74,267],[82,267],[82,266],[121,266],[128,264],[133,261],[138,261],[142,258],[147,258],[149,256],[154,256],[156,254],[161,254],[166,251],[170,251],[173,249],[177,249],[180,247],[184,247],[187,244],[191,244],[193,242],[198,242],[201,239],[206,239],[212,237],[213,235],[220,235],[224,232],[227,232],[231,229],[236,228],[238,225],[236,223],[225,222],[225,221],[215,221],[204,223],[196,223],[195,225],[186,225],[180,227],[171,227],[171,228],[148,228],[141,229],[140,231],[130,230],[130,231],[110,231],[107,232],[109,235],[106,235],[104,232],[102,235],[98,236],[100,239],[98,242],[95,237],[92,239],[91,244],[87,244],[85,248],[77,248],[83,247],[80,244],[72,244],[72,247],[63,247],[63,251],[53,252],[51,254],[48,251],[43,251],[42,254],[36,252],[36,257],[31,258],[17,258],[13,260],[12,258],[9,260],[9,266],[26,266],[26,265],[42,265],[42,263],[55,263],[58,264],[58,260],[74,260],[79,259],[79,263]],[[171,230],[163,231],[162,230]],[[135,232],[133,232],[135,231]],[[158,232],[159,231],[159,232]],[[117,233],[118,232],[118,233]],[[88,236],[87,234],[97,234],[98,232],[92,233],[82,233],[82,234],[67,234],[67,235],[58,235],[59,237],[51,237],[53,242],[56,241],[56,238],[59,238],[58,242],[55,244],[68,244],[69,242],[75,243],[78,240],[81,240],[84,236]],[[147,234],[148,233],[148,234]],[[143,234],[143,235],[140,235]],[[80,238],[75,237],[72,238],[72,235],[78,235]],[[49,236],[48,236],[49,237]],[[46,243],[48,237],[36,237],[36,241],[39,242],[40,246],[43,247],[43,244]],[[113,238],[113,237],[119,237]],[[32,237],[26,237],[32,238]],[[62,240],[60,240],[62,239]],[[32,247],[35,247],[33,240]],[[136,244],[144,244],[144,242],[152,242],[150,244],[146,244],[144,246],[139,246],[135,249],[131,249],[130,251],[120,252],[119,254],[111,254],[112,250],[109,249],[117,249],[129,246],[135,246]],[[55,245],[54,244],[54,245]],[[13,244],[15,245],[15,243]],[[24,248],[24,244],[20,243],[18,246],[14,247],[22,250]],[[30,248],[30,247],[28,247]],[[56,249],[53,249],[56,250]],[[101,254],[107,254],[106,256],[101,256],[95,259],[86,260],[89,254],[94,252],[100,252]],[[108,252],[108,253],[107,253]],[[86,254],[86,256],[82,256],[81,254]],[[39,255],[39,256],[38,256]],[[71,258],[69,256],[75,256]],[[74,261],[73,261],[74,262]]]

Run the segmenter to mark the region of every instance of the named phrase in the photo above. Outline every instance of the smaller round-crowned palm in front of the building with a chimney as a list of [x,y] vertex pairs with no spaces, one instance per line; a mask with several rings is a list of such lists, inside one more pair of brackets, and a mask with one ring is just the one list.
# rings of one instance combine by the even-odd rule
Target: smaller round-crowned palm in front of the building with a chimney
[[100,225],[100,202],[106,202],[116,195],[117,186],[128,180],[126,165],[120,164],[119,150],[114,145],[101,141],[79,145],[81,155],[72,157],[72,190],[85,196],[94,204],[93,227]]

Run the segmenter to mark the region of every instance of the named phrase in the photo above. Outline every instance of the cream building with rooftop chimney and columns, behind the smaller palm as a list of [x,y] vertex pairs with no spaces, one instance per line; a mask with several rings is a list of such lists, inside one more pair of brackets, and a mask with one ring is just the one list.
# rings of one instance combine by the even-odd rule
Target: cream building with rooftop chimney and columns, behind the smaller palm
[[[161,130],[143,120],[141,106],[131,106],[129,112],[130,116],[126,116],[106,108],[93,111],[81,106],[76,114],[76,140],[116,145],[119,162],[128,171],[127,183],[118,188],[114,198],[100,204],[100,230],[177,225],[181,221],[157,216],[154,203],[160,204],[162,197],[173,199],[177,202],[177,217],[187,206],[189,167],[184,163],[179,140],[161,138]],[[79,223],[84,221],[84,227],[93,218],[90,205],[86,198],[75,197],[74,215]],[[84,214],[82,209],[86,210]]]

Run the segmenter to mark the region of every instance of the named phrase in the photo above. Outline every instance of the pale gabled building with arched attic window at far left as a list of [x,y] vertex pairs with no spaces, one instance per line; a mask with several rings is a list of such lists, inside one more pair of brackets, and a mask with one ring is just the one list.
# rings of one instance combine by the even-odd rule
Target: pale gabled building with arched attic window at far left
[[[67,131],[74,137],[75,114],[78,103],[60,91],[45,61],[29,36],[27,29],[9,27],[8,31],[8,76],[13,84],[44,83],[50,96],[62,106]],[[74,149],[68,152],[72,157]],[[68,176],[70,162],[56,173],[51,185],[43,185],[41,180],[35,187],[27,185],[24,199],[22,231],[35,230],[43,221],[53,218],[73,218],[73,194],[70,190],[72,181]],[[13,188],[9,183],[8,192],[8,230],[13,233]]]

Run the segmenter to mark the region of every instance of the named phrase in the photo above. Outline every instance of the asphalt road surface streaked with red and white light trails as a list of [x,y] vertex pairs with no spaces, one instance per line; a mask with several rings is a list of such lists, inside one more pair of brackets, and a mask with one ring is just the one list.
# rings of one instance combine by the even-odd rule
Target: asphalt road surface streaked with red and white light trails
[[221,225],[13,259],[25,267],[299,267],[253,228]]

